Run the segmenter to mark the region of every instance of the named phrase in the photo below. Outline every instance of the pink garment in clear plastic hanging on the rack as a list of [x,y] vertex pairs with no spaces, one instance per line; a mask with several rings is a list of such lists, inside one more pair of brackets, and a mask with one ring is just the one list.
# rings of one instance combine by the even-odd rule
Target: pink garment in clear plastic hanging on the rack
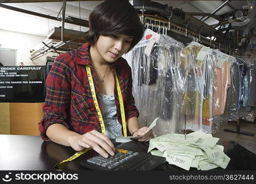
[[226,94],[231,86],[230,62],[225,61],[222,68],[217,67],[214,90],[214,115],[221,115],[225,111]]

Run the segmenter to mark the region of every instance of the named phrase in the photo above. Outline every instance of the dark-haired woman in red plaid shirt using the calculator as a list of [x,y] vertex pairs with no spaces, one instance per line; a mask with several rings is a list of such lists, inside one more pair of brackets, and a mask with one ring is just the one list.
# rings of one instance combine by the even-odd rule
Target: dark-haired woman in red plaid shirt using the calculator
[[121,58],[142,36],[142,24],[128,1],[108,0],[95,7],[89,42],[58,56],[49,72],[42,139],[76,151],[91,147],[107,158],[114,155],[110,138],[126,136],[127,130],[143,136],[139,141],[153,137],[138,125],[132,72]]

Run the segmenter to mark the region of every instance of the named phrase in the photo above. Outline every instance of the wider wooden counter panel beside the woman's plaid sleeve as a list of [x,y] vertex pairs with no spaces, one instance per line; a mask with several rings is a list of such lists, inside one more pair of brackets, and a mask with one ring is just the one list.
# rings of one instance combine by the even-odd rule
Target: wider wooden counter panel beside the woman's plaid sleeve
[[39,136],[44,103],[10,103],[10,134]]

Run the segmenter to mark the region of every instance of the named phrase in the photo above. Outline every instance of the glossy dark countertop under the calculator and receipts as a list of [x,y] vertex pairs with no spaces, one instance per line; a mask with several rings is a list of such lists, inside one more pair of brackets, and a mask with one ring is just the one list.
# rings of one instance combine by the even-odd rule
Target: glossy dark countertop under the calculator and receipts
[[[55,164],[76,153],[71,147],[54,142],[44,142],[39,136],[0,135],[0,142],[0,170],[55,170]],[[256,170],[256,155],[254,153],[233,141],[222,141],[221,143],[225,147],[224,152],[231,158],[226,170]],[[118,148],[146,153],[149,142],[132,141],[115,145]],[[79,166],[78,162],[86,158],[88,154],[95,154],[94,150],[69,162],[64,170],[83,170],[84,167]],[[162,169],[183,170],[167,163],[158,168],[158,170]],[[191,170],[196,170],[196,168]]]

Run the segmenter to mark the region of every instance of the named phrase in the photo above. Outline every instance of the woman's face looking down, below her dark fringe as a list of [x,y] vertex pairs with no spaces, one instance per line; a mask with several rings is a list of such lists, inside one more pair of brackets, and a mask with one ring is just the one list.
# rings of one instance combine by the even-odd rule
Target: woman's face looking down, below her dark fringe
[[120,58],[132,44],[132,36],[126,36],[124,34],[98,37],[96,48],[98,54],[102,59],[108,63],[114,63]]

